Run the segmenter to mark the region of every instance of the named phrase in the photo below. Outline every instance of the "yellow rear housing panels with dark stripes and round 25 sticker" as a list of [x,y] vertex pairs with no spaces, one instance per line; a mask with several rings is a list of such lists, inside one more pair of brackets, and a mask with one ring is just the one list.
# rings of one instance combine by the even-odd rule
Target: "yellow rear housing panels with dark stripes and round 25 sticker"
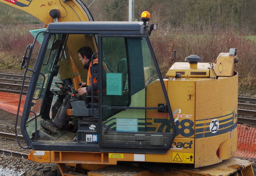
[[[218,80],[169,78],[167,81],[168,97],[175,100],[170,101],[173,117],[180,124],[177,126],[180,134],[176,134],[175,140],[184,137],[195,140],[195,167],[221,162],[236,153],[237,100],[228,95],[237,94],[237,82],[237,75]],[[220,95],[217,99],[216,94]],[[211,126],[214,120],[219,123],[218,129]],[[218,148],[220,158],[216,155]]]

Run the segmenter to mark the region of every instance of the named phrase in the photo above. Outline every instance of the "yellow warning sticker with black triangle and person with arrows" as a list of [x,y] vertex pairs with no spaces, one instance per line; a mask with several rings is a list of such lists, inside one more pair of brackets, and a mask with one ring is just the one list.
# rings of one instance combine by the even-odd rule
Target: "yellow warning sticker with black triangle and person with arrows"
[[194,153],[172,152],[173,163],[194,163]]

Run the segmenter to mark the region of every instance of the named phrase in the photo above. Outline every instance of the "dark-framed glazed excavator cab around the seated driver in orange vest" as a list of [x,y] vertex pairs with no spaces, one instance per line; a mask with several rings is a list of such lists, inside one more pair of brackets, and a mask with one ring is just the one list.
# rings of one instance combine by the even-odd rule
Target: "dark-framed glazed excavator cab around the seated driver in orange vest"
[[[147,30],[143,22],[61,22],[41,32],[21,124],[31,148],[167,152],[174,122]],[[83,46],[99,60],[99,94],[92,93],[91,102],[73,101],[71,125],[52,134],[39,120],[51,121],[65,96],[87,81],[77,53]]]

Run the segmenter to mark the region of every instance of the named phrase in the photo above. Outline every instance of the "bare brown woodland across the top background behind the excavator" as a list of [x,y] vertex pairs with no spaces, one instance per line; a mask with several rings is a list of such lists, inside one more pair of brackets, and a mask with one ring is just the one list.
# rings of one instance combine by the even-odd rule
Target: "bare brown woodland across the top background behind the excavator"
[[[129,0],[82,0],[97,21],[128,21]],[[254,33],[255,0],[134,0],[134,18],[140,20],[143,11],[151,13],[151,22],[193,27],[235,26]],[[19,9],[0,3],[0,23],[17,20],[36,21]]]

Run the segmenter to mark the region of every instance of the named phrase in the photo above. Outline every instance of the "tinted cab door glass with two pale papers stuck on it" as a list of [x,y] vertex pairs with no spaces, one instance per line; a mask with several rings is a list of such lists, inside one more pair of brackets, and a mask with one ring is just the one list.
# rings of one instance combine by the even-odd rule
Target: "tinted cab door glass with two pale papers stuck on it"
[[166,101],[147,39],[101,39],[102,61],[109,70],[102,72],[103,124],[117,132],[166,132],[169,117],[156,109]]

